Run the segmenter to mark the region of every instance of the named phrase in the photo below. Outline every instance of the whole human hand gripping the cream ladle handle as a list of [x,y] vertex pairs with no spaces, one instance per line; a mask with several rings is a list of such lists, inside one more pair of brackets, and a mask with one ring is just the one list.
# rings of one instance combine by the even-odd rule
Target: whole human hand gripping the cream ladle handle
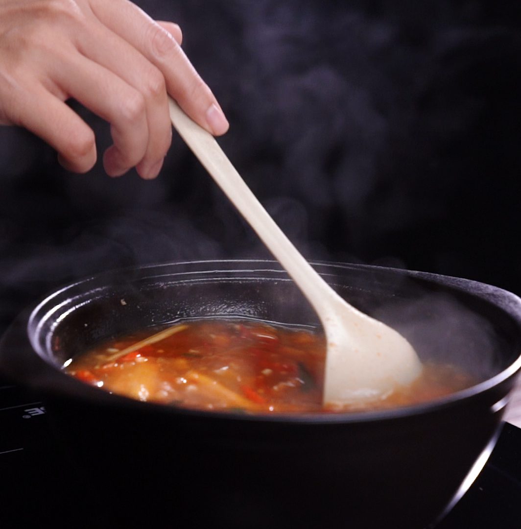
[[111,124],[108,175],[136,167],[155,178],[171,143],[167,93],[212,134],[228,129],[181,39],[177,24],[128,0],[0,0],[0,124],[29,129],[86,172],[95,136],[65,103],[74,98]]

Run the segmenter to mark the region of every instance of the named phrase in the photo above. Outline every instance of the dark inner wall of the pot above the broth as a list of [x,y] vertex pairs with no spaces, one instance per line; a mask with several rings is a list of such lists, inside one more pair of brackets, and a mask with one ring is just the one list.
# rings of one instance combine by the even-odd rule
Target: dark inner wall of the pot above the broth
[[[516,322],[469,287],[386,269],[328,269],[325,277],[355,307],[403,333],[423,361],[455,363],[482,381],[517,357]],[[42,319],[37,339],[45,360],[59,367],[101,340],[186,318],[247,317],[319,327],[313,309],[281,271],[114,279],[86,290],[79,284],[59,311]]]

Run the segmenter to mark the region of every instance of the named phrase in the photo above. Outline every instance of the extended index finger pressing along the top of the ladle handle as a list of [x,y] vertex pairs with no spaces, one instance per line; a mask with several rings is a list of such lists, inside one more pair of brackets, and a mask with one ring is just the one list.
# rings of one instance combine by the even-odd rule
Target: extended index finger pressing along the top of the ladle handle
[[100,22],[159,68],[169,94],[194,121],[217,136],[228,130],[228,122],[212,90],[167,30],[128,0],[90,3]]

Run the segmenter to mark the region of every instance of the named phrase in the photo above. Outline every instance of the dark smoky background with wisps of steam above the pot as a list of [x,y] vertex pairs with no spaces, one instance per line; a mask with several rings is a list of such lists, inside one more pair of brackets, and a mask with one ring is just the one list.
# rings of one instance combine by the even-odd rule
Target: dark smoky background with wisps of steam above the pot
[[[184,31],[220,143],[308,258],[521,294],[521,4],[143,0]],[[107,53],[110,53],[107,50]],[[109,144],[108,126],[74,102]],[[71,279],[170,260],[269,257],[178,137],[161,175],[61,169],[0,128],[0,331]]]

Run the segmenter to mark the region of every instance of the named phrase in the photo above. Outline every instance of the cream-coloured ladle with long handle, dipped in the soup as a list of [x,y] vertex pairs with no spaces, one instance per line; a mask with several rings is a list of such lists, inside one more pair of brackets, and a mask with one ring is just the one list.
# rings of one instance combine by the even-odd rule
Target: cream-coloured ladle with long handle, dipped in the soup
[[409,342],[336,294],[262,207],[215,138],[172,99],[169,105],[182,139],[315,309],[327,341],[324,404],[379,398],[412,382],[422,364]]

